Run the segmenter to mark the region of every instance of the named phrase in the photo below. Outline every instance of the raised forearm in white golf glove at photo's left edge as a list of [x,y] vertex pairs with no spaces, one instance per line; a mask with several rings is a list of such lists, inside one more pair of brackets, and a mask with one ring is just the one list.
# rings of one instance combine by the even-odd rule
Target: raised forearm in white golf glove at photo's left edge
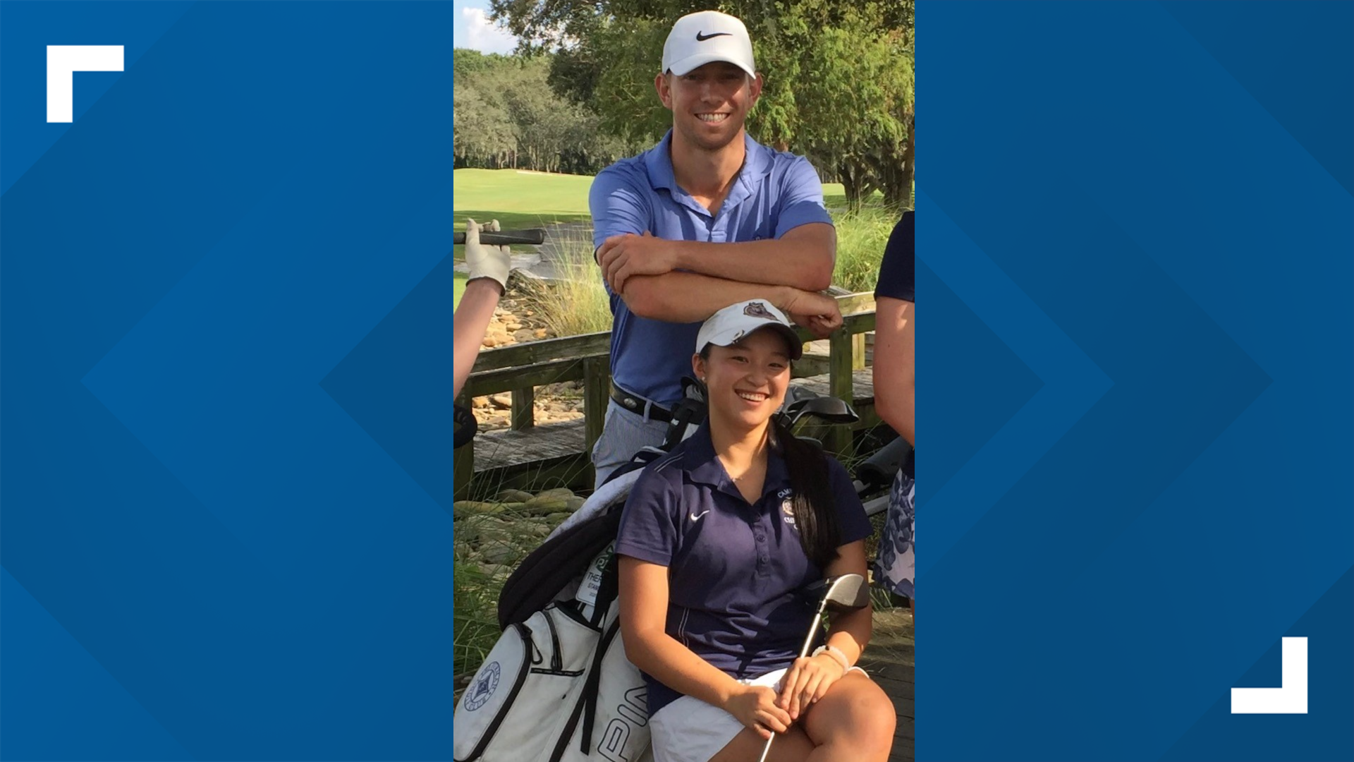
[[466,292],[460,294],[460,304],[452,319],[452,350],[455,351],[452,397],[460,396],[460,388],[470,377],[470,369],[479,357],[479,344],[485,340],[485,331],[494,317],[494,308],[498,306],[498,297],[508,287],[508,270],[510,256],[505,245],[483,245],[479,243],[479,232],[498,232],[498,220],[487,225],[478,225],[474,220],[466,220],[466,264],[470,266],[470,279],[466,282]]

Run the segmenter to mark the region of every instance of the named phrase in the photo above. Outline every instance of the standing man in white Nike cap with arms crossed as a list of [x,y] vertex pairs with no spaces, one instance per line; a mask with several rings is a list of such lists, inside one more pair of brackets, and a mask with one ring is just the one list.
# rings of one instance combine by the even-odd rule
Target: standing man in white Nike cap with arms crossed
[[747,28],[703,11],[673,24],[658,98],[673,129],[593,180],[593,245],[611,293],[612,401],[593,447],[597,484],[658,445],[691,373],[700,323],[764,298],[816,336],[841,325],[837,235],[808,160],[743,130],[761,95]]

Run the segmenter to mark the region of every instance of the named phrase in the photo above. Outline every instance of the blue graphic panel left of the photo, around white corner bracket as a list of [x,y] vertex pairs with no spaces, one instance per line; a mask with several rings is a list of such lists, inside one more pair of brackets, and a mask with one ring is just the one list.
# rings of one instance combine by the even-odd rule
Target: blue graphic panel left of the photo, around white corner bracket
[[445,758],[450,4],[3,16],[0,757]]

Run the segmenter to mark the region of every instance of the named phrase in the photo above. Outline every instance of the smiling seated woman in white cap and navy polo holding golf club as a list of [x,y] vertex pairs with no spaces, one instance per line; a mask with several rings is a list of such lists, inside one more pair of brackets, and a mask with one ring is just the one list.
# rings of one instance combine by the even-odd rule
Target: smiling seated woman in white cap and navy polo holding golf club
[[854,663],[869,607],[833,616],[826,643],[799,648],[826,576],[865,575],[871,525],[850,477],[779,426],[802,344],[769,301],[704,323],[692,367],[709,418],[650,464],[626,503],[621,636],[645,673],[655,762],[883,762],[888,696]]

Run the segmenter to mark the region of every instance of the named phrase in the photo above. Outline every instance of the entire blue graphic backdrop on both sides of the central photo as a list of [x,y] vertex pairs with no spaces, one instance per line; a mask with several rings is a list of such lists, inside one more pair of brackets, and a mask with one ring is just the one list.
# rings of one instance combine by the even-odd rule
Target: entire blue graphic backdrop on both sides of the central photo
[[[447,757],[451,12],[4,11],[7,758]],[[1354,4],[917,20],[918,758],[1354,758]]]

